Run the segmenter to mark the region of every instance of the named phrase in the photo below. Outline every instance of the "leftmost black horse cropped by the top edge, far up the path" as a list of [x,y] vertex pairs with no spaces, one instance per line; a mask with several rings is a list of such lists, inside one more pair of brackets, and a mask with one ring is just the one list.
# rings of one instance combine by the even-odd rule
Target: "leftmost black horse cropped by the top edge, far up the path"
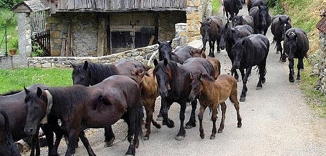
[[225,8],[225,14],[227,14],[227,22],[229,23],[229,20],[232,20],[234,15],[238,15],[239,10],[242,9],[241,0],[224,0],[223,4]]

